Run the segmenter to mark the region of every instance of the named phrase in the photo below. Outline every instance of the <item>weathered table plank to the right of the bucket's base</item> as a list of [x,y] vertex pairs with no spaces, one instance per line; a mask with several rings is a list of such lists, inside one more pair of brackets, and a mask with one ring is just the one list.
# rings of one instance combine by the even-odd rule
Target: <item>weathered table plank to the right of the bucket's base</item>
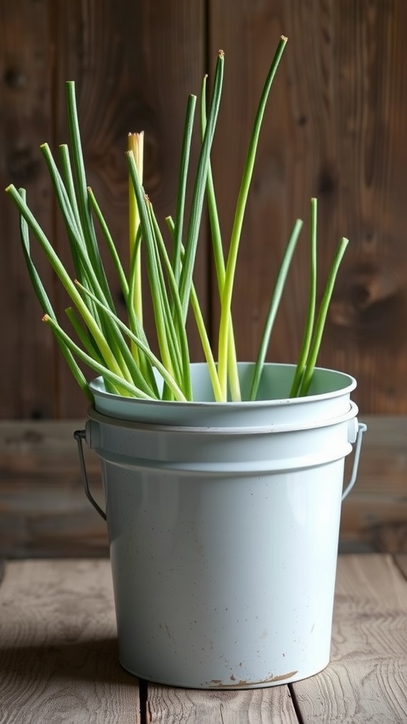
[[340,557],[331,663],[293,688],[306,724],[406,721],[407,581],[390,555]]

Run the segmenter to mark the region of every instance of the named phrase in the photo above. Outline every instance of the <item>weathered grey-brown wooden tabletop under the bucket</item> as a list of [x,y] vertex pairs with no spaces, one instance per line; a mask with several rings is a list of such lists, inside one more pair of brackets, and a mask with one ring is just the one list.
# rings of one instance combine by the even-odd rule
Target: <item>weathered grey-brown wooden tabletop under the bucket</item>
[[332,659],[289,686],[192,691],[117,662],[108,560],[21,560],[0,585],[0,724],[407,722],[407,555],[340,556]]

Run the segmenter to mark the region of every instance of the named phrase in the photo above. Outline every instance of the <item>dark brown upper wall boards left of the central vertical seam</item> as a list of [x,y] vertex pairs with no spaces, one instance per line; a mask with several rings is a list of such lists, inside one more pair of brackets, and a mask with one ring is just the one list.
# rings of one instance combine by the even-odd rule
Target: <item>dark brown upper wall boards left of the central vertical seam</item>
[[[198,90],[206,51],[203,0],[0,1],[0,174],[28,199],[62,255],[67,239],[54,209],[39,145],[67,140],[64,82],[75,80],[88,182],[127,258],[127,133],[146,132],[145,185],[158,216],[173,213],[185,103]],[[22,264],[17,215],[0,195],[0,417],[70,418],[86,402],[70,378]],[[206,308],[206,250],[197,285]],[[4,250],[4,251],[3,251]],[[66,300],[53,290],[55,308]],[[54,291],[54,294],[52,292]],[[117,298],[119,285],[117,283]]]

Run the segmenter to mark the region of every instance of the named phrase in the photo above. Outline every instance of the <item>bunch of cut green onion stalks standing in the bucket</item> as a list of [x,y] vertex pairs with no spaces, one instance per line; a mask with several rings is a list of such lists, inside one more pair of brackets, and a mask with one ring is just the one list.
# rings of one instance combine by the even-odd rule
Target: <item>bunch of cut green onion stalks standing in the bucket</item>
[[[153,204],[143,185],[143,132],[128,135],[125,159],[129,179],[129,251],[125,261],[119,256],[103,211],[86,178],[74,81],[68,81],[66,84],[69,143],[59,147],[59,158],[54,157],[48,144],[44,143],[41,146],[54,188],[56,204],[67,232],[72,266],[75,270],[73,279],[31,211],[25,189],[17,189],[12,184],[7,187],[7,193],[20,212],[22,252],[30,281],[43,310],[43,321],[53,332],[73,376],[88,397],[91,398],[91,393],[84,368],[100,375],[104,379],[106,390],[116,395],[138,397],[143,400],[164,399],[174,402],[192,400],[190,344],[186,332],[186,321],[188,313],[191,312],[208,365],[214,400],[217,402],[240,400],[238,355],[232,319],[233,286],[264,111],[286,43],[287,38],[284,36],[277,43],[259,100],[248,143],[227,253],[222,243],[215,192],[216,180],[211,170],[211,149],[217,127],[224,77],[225,56],[222,51],[219,51],[217,56],[211,93],[207,87],[206,77],[201,85],[199,133],[201,145],[194,171],[190,168],[190,150],[194,138],[197,99],[193,95],[188,98],[182,134],[175,214],[165,219],[163,227],[156,219]],[[188,188],[191,190],[189,203],[187,203]],[[206,204],[220,303],[216,345],[213,340],[211,341],[193,282],[198,238]],[[348,244],[348,240],[343,238],[338,245],[317,309],[316,211],[316,199],[313,198],[309,243],[309,303],[298,364],[290,391],[292,397],[307,395],[309,392],[337,271]],[[256,400],[258,394],[274,321],[301,227],[301,219],[297,219],[277,270],[254,364],[253,382],[248,396],[250,400]],[[45,254],[70,298],[64,321],[57,319],[35,266],[31,253],[32,239],[35,239]],[[102,260],[105,256],[109,259],[125,300],[127,309],[125,320],[119,316],[114,304],[114,295],[108,282],[109,275],[106,274]],[[143,303],[146,305],[147,297],[143,293],[142,279],[147,282],[148,300],[154,316],[155,343],[158,346],[156,351],[153,351],[144,327],[146,313]]]

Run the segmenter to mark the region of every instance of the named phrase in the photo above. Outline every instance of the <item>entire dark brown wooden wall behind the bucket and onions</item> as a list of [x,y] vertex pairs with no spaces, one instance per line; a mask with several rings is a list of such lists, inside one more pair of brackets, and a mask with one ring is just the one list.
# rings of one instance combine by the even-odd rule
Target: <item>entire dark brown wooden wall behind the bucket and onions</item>
[[[340,236],[351,240],[319,363],[356,376],[361,416],[379,416],[372,418],[370,455],[362,455],[361,499],[355,492],[353,508],[344,508],[345,537],[348,531],[350,539],[362,542],[366,530],[407,519],[407,441],[397,417],[407,414],[406,30],[404,0],[0,0],[1,185],[27,188],[62,255],[66,239],[39,146],[47,140],[56,149],[66,140],[65,80],[77,83],[88,180],[125,254],[127,132],[146,132],[146,190],[164,219],[175,210],[186,98],[199,92],[205,72],[211,77],[217,50],[224,49],[213,167],[227,237],[261,85],[279,36],[288,35],[244,227],[234,298],[238,353],[242,359],[255,354],[288,232],[301,216],[306,235],[309,199],[316,195],[322,282]],[[206,319],[216,323],[208,251],[204,229],[196,283]],[[63,309],[41,256],[38,266],[56,308]],[[304,236],[270,359],[295,361],[306,295]],[[73,426],[75,418],[85,417],[87,403],[41,322],[22,263],[17,213],[4,193],[0,330],[0,508],[6,511],[4,526],[14,531],[4,548],[8,555],[46,552],[49,546],[33,542],[38,515],[47,515],[44,501],[51,505],[51,518],[42,531],[46,526],[72,531],[88,505],[79,512],[72,504],[79,484],[72,467],[75,447],[70,440],[68,462],[51,421],[72,420]],[[199,358],[198,345],[193,354]],[[38,419],[43,423],[35,426]],[[51,457],[46,445],[54,451]],[[53,487],[58,460],[67,497],[58,497]],[[37,502],[33,480],[46,485]],[[52,502],[54,495],[59,502]],[[86,515],[80,550],[90,541],[89,520],[95,523],[92,510]]]

